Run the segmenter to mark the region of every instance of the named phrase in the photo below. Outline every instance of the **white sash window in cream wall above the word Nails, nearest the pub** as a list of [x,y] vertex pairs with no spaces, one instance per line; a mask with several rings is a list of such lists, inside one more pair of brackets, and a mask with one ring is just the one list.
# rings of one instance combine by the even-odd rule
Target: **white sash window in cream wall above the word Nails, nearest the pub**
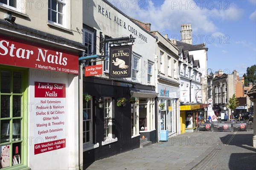
[[[53,10],[52,7],[49,8],[49,4],[51,4],[52,1],[56,1],[57,2],[57,11]],[[61,3],[63,6],[62,6],[62,12],[59,12],[58,11],[58,3]],[[62,15],[62,24],[58,23],[58,14],[57,14],[57,18],[56,18],[56,22],[52,21],[52,11],[55,11],[59,14]],[[50,20],[49,20],[49,15],[50,15]],[[57,25],[57,26],[61,26],[61,27],[67,27],[67,3],[66,3],[66,0],[48,0],[48,22],[49,23],[52,23],[54,25]]]

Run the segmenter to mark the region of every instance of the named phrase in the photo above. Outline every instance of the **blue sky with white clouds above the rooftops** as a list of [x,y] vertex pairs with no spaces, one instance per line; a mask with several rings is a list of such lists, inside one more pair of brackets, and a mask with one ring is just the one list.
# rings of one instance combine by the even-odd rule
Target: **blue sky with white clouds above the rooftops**
[[[109,0],[111,1],[111,0]],[[256,0],[112,0],[151,30],[180,40],[182,24],[192,25],[193,44],[206,42],[207,68],[231,74],[256,65]]]

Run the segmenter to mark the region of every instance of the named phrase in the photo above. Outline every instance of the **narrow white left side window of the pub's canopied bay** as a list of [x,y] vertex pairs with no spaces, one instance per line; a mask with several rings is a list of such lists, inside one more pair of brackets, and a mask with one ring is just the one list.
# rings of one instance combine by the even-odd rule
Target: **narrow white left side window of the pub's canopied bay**
[[[140,136],[140,126],[139,126],[139,103],[131,104],[131,138]],[[133,122],[133,125],[132,125]]]

